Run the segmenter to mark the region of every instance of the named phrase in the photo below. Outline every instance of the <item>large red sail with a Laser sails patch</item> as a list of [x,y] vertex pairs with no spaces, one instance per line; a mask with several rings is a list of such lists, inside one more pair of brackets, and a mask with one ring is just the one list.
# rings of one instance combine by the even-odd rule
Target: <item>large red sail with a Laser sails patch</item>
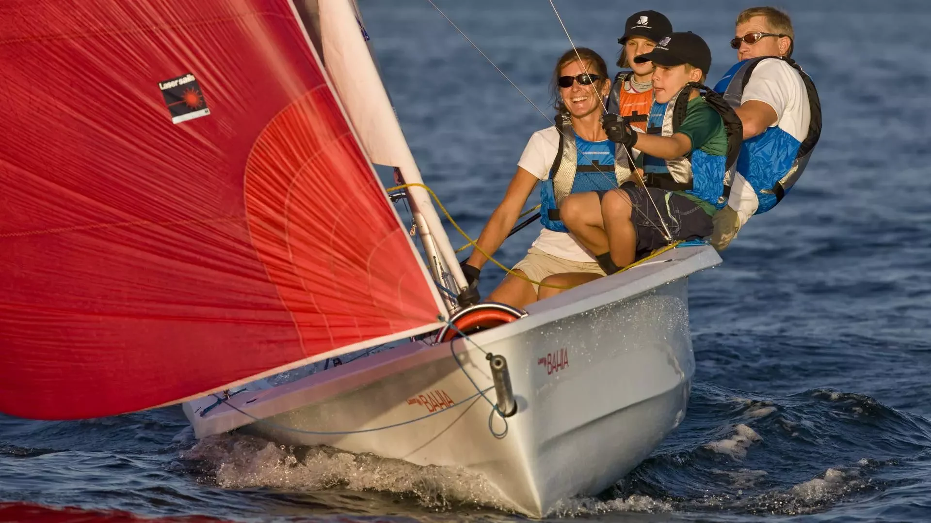
[[146,409],[436,327],[290,1],[0,20],[0,411]]

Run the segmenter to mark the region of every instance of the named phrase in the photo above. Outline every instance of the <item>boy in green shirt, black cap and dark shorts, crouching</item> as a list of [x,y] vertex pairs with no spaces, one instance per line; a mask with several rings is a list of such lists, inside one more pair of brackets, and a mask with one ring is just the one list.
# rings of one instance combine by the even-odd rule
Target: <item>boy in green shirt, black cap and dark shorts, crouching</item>
[[[701,37],[669,34],[653,51],[634,60],[655,65],[647,132],[634,131],[617,114],[605,114],[602,124],[618,147],[641,153],[637,165],[645,186],[627,181],[613,191],[570,194],[560,206],[566,227],[596,255],[608,275],[674,241],[711,235],[711,215],[726,201],[728,153],[739,147],[739,141],[728,147],[729,133],[719,113],[726,104],[709,105],[698,89],[686,88],[700,84],[711,65],[711,51]],[[595,276],[552,275],[543,283],[564,287],[592,279]],[[540,299],[559,291],[541,286]]]

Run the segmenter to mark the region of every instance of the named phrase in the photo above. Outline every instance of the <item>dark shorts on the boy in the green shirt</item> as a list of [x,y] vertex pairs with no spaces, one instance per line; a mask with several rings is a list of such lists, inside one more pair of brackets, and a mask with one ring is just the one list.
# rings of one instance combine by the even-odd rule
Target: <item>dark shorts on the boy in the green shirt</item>
[[[634,233],[637,235],[635,260],[640,260],[655,249],[666,247],[674,241],[687,241],[711,235],[711,217],[685,196],[654,187],[644,189],[632,181],[627,181],[620,188],[630,196],[633,206],[630,221],[633,222]],[[606,193],[607,191],[598,191],[599,199]],[[672,236],[671,241],[666,237],[667,230]]]

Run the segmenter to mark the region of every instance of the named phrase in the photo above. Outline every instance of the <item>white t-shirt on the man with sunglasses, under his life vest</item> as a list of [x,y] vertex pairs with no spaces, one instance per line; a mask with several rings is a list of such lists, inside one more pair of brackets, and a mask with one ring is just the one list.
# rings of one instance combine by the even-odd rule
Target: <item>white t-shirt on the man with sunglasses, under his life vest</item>
[[[757,64],[744,87],[740,103],[751,100],[762,101],[776,111],[776,123],[770,127],[779,127],[798,141],[804,141],[808,136],[812,118],[808,91],[802,75],[785,61],[774,58]],[[727,205],[737,211],[741,223],[746,223],[760,206],[753,188],[740,173],[731,183]]]

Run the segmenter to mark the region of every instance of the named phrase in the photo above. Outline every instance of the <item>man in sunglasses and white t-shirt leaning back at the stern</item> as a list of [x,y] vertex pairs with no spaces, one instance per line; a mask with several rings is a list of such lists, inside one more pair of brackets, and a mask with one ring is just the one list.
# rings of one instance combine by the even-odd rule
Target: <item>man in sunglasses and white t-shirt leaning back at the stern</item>
[[728,205],[714,215],[711,245],[726,248],[753,214],[774,208],[801,176],[821,133],[821,106],[808,74],[789,58],[794,32],[775,7],[737,16],[736,63],[715,90],[740,117],[744,142]]

